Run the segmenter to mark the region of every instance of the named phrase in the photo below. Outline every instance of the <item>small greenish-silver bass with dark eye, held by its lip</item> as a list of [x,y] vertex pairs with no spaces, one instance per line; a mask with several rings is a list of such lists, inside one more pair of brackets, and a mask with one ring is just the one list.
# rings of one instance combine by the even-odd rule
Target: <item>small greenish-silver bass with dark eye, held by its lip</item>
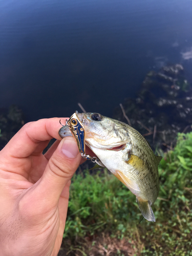
[[[152,205],[159,193],[158,165],[150,144],[133,127],[99,113],[78,113],[86,145],[105,166],[136,196],[143,217],[155,222]],[[69,126],[59,130],[61,138],[73,136]],[[100,164],[100,165],[101,165]]]

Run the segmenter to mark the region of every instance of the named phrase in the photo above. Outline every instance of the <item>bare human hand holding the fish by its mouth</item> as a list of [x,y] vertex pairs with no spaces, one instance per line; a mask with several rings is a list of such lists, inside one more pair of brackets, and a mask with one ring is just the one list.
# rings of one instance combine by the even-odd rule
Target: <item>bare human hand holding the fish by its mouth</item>
[[[75,139],[61,140],[59,129],[59,118],[27,123],[0,152],[1,256],[59,251],[70,179],[82,161]],[[42,155],[52,138],[57,141]]]

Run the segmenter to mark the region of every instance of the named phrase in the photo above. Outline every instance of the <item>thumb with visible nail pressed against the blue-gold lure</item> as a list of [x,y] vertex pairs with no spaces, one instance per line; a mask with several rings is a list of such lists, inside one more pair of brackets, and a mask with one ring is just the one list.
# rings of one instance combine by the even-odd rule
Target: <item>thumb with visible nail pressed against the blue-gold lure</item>
[[73,137],[61,140],[49,159],[44,174],[39,180],[41,197],[50,204],[57,204],[60,194],[79,166],[81,155]]

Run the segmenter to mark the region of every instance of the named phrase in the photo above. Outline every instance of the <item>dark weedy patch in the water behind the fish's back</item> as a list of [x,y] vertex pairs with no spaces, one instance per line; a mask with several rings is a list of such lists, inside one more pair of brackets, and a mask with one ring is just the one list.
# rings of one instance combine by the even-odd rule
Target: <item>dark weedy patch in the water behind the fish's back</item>
[[183,66],[148,72],[136,98],[126,98],[114,110],[113,118],[131,123],[154,151],[173,149],[177,134],[190,132],[192,124],[192,88]]

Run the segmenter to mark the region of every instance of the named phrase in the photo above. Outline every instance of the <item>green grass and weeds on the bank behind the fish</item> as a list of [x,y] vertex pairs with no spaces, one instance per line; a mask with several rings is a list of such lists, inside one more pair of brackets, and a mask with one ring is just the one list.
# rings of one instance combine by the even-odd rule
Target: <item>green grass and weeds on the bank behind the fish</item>
[[[72,179],[64,238],[109,233],[131,238],[136,255],[192,255],[192,133],[178,134],[174,151],[159,165],[156,222],[141,219],[136,197],[107,170]],[[83,248],[81,248],[83,250]]]

